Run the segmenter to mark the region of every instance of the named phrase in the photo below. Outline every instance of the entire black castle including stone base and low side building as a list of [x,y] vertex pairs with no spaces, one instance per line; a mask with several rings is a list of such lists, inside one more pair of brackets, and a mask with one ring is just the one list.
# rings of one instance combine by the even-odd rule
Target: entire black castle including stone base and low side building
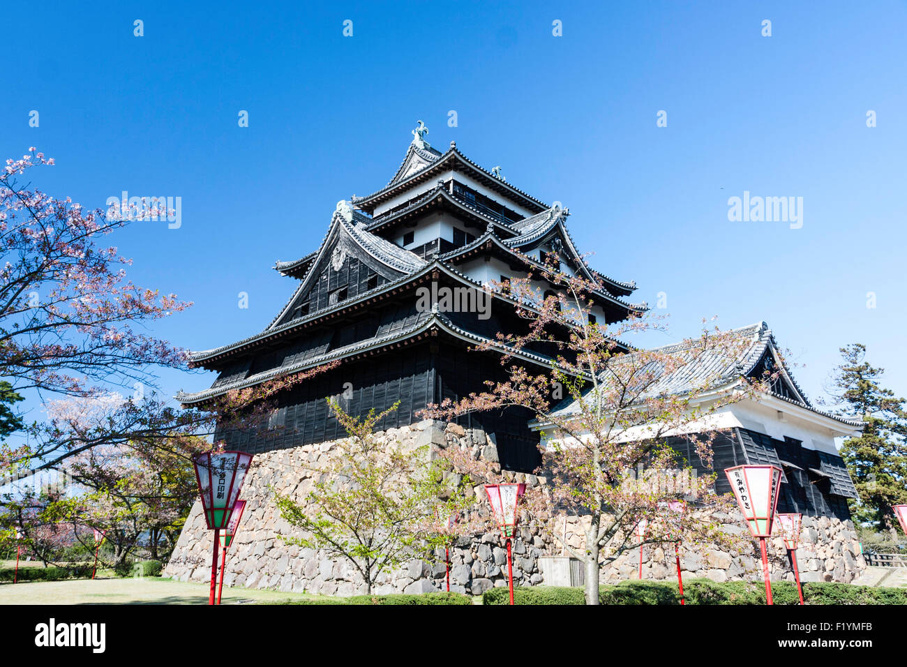
[[[323,458],[346,435],[326,397],[336,397],[350,414],[365,414],[372,407],[380,411],[399,400],[400,407],[385,417],[377,437],[471,445],[521,481],[540,483],[531,474],[540,462],[532,414],[511,409],[462,417],[455,424],[417,415],[427,403],[463,397],[482,389],[486,380],[503,379],[496,353],[470,348],[492,340],[498,331],[522,331],[527,324],[507,295],[483,289],[490,281],[525,276],[527,262],[541,268],[545,253],[553,251],[565,270],[600,280],[603,289],[591,309],[596,321],[618,322],[646,309],[632,299],[634,282],[587,265],[568,231],[570,211],[514,187],[500,168],[486,170],[472,162],[455,142],[444,152],[436,150],[426,141],[427,132],[420,121],[385,187],[336,204],[317,249],[297,260],[278,261],[275,269],[288,279],[291,296],[266,329],[191,355],[194,366],[219,375],[209,389],[180,393],[177,398],[186,406],[336,362],[335,368],[279,396],[268,424],[256,430],[221,428],[215,435],[229,449],[255,454],[257,461],[242,492],[247,506],[227,561],[228,585],[327,594],[359,591],[360,580],[345,562],[279,539],[290,526],[269,490],[307,495],[313,483],[307,464]],[[470,307],[442,309],[432,299],[434,304],[425,307],[420,301],[425,288],[449,288],[448,293],[475,300]],[[737,335],[750,338],[752,345],[746,358],[738,360],[736,373],[761,375],[778,366],[782,372],[765,400],[727,408],[722,426],[730,435],[716,446],[716,468],[743,463],[781,467],[785,479],[778,511],[804,514],[803,579],[849,582],[864,563],[846,505],[855,490],[834,437],[857,432],[859,423],[810,404],[783,367],[765,323],[738,329]],[[523,349],[520,358],[547,368],[548,352]],[[719,479],[718,491],[728,490],[720,484]],[[564,525],[568,540],[572,527]],[[205,533],[197,502],[165,574],[208,580],[210,535]],[[452,590],[482,593],[505,585],[501,547],[496,534],[463,538],[451,552]],[[546,559],[560,556],[561,547],[546,544],[537,529],[520,529],[514,554],[515,582],[558,583],[546,580],[544,573]],[[635,572],[639,554],[625,556],[603,571],[603,583]],[[717,581],[759,578],[757,561],[753,553],[681,553],[684,570]],[[644,565],[646,578],[672,576],[658,548],[647,547]],[[773,572],[786,575],[786,564],[773,564]],[[421,593],[440,590],[443,581],[443,564],[413,561],[387,574],[375,590]]]

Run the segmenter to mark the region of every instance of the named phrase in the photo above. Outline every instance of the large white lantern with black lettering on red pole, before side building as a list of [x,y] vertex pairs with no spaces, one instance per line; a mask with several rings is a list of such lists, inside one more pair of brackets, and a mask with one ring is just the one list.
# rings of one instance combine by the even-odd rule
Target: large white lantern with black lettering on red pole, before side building
[[736,496],[750,533],[759,540],[762,550],[762,574],[766,579],[766,602],[772,602],[772,584],[768,577],[766,537],[772,535],[775,508],[781,490],[781,468],[777,466],[736,466],[725,468],[727,481]]

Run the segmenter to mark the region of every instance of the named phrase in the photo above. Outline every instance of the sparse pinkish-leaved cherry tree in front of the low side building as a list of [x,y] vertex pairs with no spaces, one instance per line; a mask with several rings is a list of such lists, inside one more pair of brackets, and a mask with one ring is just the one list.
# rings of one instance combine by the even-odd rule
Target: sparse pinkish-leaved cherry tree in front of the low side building
[[[556,292],[542,296],[540,283]],[[527,520],[548,526],[550,537],[561,542],[554,526],[568,517],[580,523],[581,548],[566,542],[563,547],[584,564],[587,603],[598,603],[602,565],[640,543],[670,543],[680,536],[687,543],[733,541],[715,519],[733,506],[716,495],[715,475],[695,475],[691,462],[679,461],[670,445],[672,438],[691,440],[700,463],[711,466],[718,433],[713,417],[765,388],[739,375],[731,387],[716,387],[750,341],[704,328],[701,336],[674,348],[627,349],[618,340],[663,329],[661,321],[633,316],[616,325],[590,323],[593,300],[606,293],[605,285],[562,270],[554,254],[526,278],[495,282],[490,289],[509,295],[527,321],[525,331],[498,333],[476,348],[501,353],[509,378],[429,406],[424,416],[450,420],[507,407],[532,410],[544,433],[543,463],[536,472],[546,484],[528,490],[523,510]],[[518,357],[541,346],[554,350],[550,368],[532,372]],[[704,360],[710,363],[700,364]],[[688,372],[693,368],[714,370]],[[685,375],[683,391],[671,390],[667,379]],[[555,398],[560,396],[567,399]],[[473,478],[500,476],[455,448],[442,456]],[[483,466],[485,473],[477,469]],[[687,501],[688,511],[667,512],[668,502],[679,499]],[[639,540],[634,529],[643,519],[649,529]]]

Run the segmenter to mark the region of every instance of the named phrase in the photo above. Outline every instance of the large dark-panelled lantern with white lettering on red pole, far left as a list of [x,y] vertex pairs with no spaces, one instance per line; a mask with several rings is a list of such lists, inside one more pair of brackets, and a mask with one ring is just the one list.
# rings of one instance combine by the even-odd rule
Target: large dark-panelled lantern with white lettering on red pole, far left
[[211,559],[211,589],[208,603],[214,604],[218,580],[218,545],[220,529],[229,526],[239,499],[252,455],[245,452],[206,452],[192,459],[199,483],[201,507],[209,529],[214,530],[214,555]]

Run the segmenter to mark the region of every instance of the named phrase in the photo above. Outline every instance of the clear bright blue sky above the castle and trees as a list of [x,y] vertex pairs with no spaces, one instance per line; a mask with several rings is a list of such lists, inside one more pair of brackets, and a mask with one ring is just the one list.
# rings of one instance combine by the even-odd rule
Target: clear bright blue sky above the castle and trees
[[[384,185],[423,119],[435,146],[569,206],[637,300],[666,292],[663,342],[766,319],[811,397],[853,341],[907,394],[907,4],[564,5],[9,3],[0,154],[37,146],[57,166],[36,184],[91,207],[180,196],[179,230],[116,242],[132,280],[195,303],[154,333],[211,348],[268,325],[295,282],[274,261]],[[728,221],[744,191],[803,197],[803,228]]]

